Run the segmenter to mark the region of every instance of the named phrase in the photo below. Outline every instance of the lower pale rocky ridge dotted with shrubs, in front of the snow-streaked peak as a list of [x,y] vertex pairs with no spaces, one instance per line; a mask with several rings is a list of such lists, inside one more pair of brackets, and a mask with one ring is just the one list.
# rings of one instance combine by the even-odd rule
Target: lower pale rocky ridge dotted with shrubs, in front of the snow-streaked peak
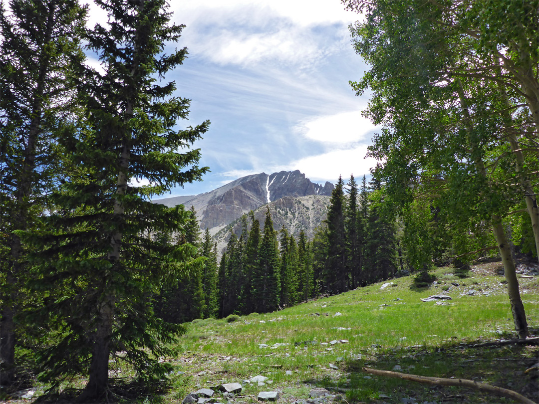
[[[307,239],[312,240],[314,229],[326,219],[331,197],[322,195],[308,195],[305,197],[282,197],[253,211],[254,217],[260,222],[260,229],[264,227],[266,210],[269,208],[273,220],[273,228],[279,231],[284,225],[289,234],[296,240],[303,230]],[[251,230],[251,219],[247,218],[248,230]],[[220,229],[213,239],[217,242],[219,253],[226,247],[231,231],[238,237],[241,234],[240,219],[234,220],[230,225]],[[278,235],[279,239],[280,236]]]

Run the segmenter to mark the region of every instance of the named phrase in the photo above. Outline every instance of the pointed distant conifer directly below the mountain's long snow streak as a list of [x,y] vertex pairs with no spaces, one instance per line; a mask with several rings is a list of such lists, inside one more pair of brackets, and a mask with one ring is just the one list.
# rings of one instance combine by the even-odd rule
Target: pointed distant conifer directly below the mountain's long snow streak
[[269,208],[266,212],[258,257],[258,266],[253,276],[253,294],[257,298],[255,310],[258,312],[277,310],[281,289],[279,249]]

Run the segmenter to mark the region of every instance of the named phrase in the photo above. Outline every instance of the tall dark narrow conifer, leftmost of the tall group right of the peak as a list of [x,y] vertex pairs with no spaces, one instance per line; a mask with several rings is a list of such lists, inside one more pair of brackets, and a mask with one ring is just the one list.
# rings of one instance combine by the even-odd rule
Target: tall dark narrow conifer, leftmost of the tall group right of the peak
[[325,277],[326,287],[332,293],[342,293],[348,290],[349,274],[346,267],[343,186],[342,177],[339,177],[335,189],[331,192],[326,219],[329,250]]

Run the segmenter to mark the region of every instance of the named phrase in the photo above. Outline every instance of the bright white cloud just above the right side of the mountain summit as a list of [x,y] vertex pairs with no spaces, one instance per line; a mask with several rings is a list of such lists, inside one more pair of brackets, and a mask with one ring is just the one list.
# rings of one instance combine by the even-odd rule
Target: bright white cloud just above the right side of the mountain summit
[[376,159],[365,158],[367,154],[366,145],[344,150],[331,150],[327,153],[309,156],[292,162],[286,170],[300,170],[307,177],[314,181],[329,181],[335,183],[338,176],[344,180],[354,174],[360,178],[369,175],[370,169],[376,166]]

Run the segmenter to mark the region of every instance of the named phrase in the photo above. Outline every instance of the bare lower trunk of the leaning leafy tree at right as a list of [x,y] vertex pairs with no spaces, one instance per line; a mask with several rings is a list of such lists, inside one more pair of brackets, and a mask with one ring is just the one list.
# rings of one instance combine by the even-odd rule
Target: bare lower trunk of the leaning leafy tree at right
[[507,280],[507,291],[509,292],[509,301],[511,302],[511,311],[513,312],[513,321],[515,323],[515,330],[519,335],[519,338],[526,338],[528,336],[528,323],[526,321],[526,313],[524,312],[524,305],[520,298],[519,280],[516,278],[515,262],[509,248],[509,242],[507,240],[505,231],[501,223],[501,219],[495,215],[492,217],[492,227],[494,230],[494,236],[498,248],[500,249],[500,255],[503,262],[503,270]]

